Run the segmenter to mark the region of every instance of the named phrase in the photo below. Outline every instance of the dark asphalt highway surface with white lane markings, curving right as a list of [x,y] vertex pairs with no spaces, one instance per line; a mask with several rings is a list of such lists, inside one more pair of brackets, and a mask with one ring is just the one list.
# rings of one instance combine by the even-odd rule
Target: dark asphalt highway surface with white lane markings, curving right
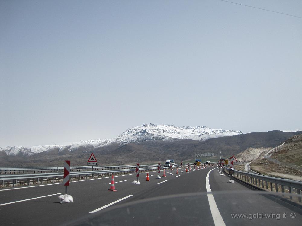
[[[236,180],[227,183],[229,178],[219,176],[217,167],[179,174],[173,170],[173,174],[166,171],[167,177],[156,179],[157,172],[150,172],[148,182],[146,173],[140,173],[140,185],[132,184],[134,174],[115,176],[116,192],[108,191],[111,177],[72,181],[68,194],[74,202],[64,204],[58,199],[59,193],[65,193],[62,183],[0,189],[1,224],[87,225],[88,220],[90,225],[233,226],[300,225],[302,220],[300,208],[259,194]],[[247,215],[239,219],[233,214]],[[271,216],[260,218],[259,214]]]

